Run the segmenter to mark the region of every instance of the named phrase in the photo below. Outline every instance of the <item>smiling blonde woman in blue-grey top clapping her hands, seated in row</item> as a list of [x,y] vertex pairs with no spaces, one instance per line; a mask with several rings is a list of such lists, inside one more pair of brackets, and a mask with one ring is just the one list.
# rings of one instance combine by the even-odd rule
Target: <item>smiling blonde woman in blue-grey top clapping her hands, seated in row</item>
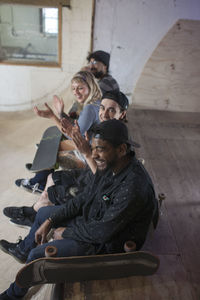
[[[62,118],[68,118],[70,116],[78,116],[77,121],[80,127],[81,134],[84,135],[87,131],[90,135],[90,128],[99,123],[99,106],[101,101],[101,90],[98,83],[91,72],[80,71],[76,73],[71,80],[72,92],[76,98],[76,102],[66,115],[64,110],[64,102],[57,96],[53,98],[53,106],[56,111],[49,107],[45,103],[46,110],[39,110],[37,106],[34,107],[35,113],[44,118],[52,119],[57,127],[62,131]],[[71,131],[73,128],[73,120],[71,119],[67,122],[68,128],[64,134],[64,139],[60,143],[59,156],[60,162],[64,161],[65,168],[82,168],[85,166],[85,161],[83,156],[79,154],[76,147],[71,140]],[[31,164],[28,164],[29,167]],[[17,179],[15,181],[17,186],[21,186],[30,192],[42,192],[45,187],[47,176],[52,173],[53,170],[43,170],[36,173],[36,175],[31,179]]]

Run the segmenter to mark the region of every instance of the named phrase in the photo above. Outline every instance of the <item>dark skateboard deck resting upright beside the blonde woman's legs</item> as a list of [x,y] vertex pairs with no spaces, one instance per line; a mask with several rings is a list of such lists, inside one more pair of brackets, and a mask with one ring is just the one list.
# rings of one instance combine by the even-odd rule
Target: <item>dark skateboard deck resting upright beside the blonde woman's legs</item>
[[62,133],[56,126],[51,126],[45,130],[30,171],[39,172],[54,167],[61,136]]

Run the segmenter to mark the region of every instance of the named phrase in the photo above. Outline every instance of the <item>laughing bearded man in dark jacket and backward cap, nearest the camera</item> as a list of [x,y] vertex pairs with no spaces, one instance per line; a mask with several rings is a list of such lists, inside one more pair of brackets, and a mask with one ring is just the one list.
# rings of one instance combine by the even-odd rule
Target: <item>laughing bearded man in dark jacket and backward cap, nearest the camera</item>
[[[21,263],[44,257],[48,245],[57,248],[58,257],[123,252],[127,240],[140,249],[157,201],[152,181],[131,145],[123,122],[98,124],[92,137],[97,171],[90,184],[64,205],[41,208],[26,238],[19,243],[1,240],[1,249]],[[51,228],[54,240],[48,243]],[[0,299],[22,299],[27,291],[14,282]]]

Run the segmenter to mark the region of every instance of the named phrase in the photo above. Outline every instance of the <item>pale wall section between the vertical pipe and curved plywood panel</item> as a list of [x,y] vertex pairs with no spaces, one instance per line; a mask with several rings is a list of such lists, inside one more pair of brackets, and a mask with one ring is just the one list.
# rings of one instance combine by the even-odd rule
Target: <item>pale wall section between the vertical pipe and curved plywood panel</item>
[[200,20],[200,1],[96,1],[94,49],[111,53],[111,74],[130,100],[144,65],[179,19]]

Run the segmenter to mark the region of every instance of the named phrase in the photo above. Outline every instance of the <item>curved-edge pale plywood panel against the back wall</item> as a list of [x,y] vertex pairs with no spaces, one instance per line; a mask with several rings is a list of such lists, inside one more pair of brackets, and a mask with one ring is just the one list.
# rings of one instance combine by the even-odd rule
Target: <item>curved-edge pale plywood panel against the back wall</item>
[[200,21],[179,20],[162,39],[136,84],[136,107],[200,112]]

